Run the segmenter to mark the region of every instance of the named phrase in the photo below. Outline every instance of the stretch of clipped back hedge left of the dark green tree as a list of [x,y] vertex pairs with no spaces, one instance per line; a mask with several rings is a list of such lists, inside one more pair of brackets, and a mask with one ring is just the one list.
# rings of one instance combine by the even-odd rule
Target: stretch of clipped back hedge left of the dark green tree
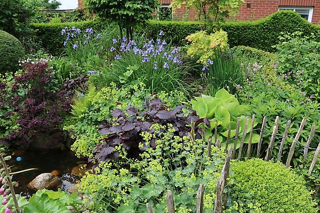
[[66,22],[66,23],[31,23],[30,26],[35,30],[35,36],[42,43],[43,48],[49,53],[58,56],[63,52],[63,42],[65,37],[61,36],[61,29],[75,26],[76,28],[85,29],[92,27],[93,29],[101,29],[104,22],[97,20]]

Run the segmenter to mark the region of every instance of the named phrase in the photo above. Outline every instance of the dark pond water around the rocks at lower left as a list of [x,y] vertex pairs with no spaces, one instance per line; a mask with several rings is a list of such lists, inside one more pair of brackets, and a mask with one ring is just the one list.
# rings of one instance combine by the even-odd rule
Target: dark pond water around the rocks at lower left
[[[21,157],[21,161],[17,161],[17,157]],[[13,181],[19,183],[19,186],[15,188],[15,192],[27,197],[35,193],[35,191],[27,188],[27,184],[34,180],[37,175],[49,172],[57,175],[62,181],[60,188],[63,191],[67,191],[80,179],[79,176],[84,173],[79,164],[86,165],[85,161],[77,158],[71,151],[35,152],[20,150],[14,151],[12,159],[7,164],[11,166],[11,172],[37,168],[37,170],[13,175]]]

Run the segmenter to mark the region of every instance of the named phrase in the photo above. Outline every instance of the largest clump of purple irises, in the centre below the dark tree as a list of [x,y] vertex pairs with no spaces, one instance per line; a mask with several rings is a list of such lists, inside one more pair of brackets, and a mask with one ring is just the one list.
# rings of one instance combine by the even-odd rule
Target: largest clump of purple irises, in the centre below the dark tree
[[115,82],[123,86],[143,82],[150,92],[180,90],[188,93],[188,85],[183,80],[188,66],[181,59],[179,47],[174,48],[161,38],[142,44],[125,38],[122,42],[113,39],[112,43],[107,54],[113,54],[114,61],[101,69],[102,75],[95,84]]

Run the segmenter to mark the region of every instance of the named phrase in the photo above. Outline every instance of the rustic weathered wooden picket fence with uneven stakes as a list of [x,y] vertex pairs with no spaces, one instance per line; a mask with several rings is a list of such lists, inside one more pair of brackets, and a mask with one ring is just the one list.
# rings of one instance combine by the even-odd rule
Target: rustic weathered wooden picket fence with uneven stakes
[[[227,179],[229,177],[229,172],[230,172],[230,161],[232,159],[237,159],[238,161],[240,161],[241,159],[245,159],[245,158],[250,158],[251,157],[251,148],[252,148],[252,133],[253,133],[253,125],[254,125],[254,119],[255,116],[252,116],[252,120],[251,120],[251,128],[249,131],[249,143],[247,146],[247,153],[246,153],[246,157],[241,157],[242,156],[242,152],[244,151],[244,140],[247,134],[247,129],[248,129],[248,121],[249,121],[249,117],[246,118],[245,121],[245,126],[244,126],[244,134],[241,137],[241,142],[240,142],[240,148],[238,150],[238,155],[237,155],[237,148],[236,146],[230,146],[229,147],[229,143],[230,143],[230,135],[231,135],[231,123],[229,122],[229,129],[228,129],[228,136],[227,136],[227,140],[226,140],[226,147],[225,150],[227,152],[227,157],[225,160],[225,164],[222,167],[222,171],[221,171],[221,175],[220,175],[220,179],[217,180],[216,183],[216,198],[215,198],[215,203],[214,203],[214,209],[213,211],[215,213],[221,213],[222,210],[226,207],[227,204],[227,198],[228,198],[228,190],[226,190],[226,193],[223,193],[223,189],[225,189],[226,187],[228,187],[227,184]],[[257,155],[256,157],[261,157],[262,153],[261,153],[261,146],[262,146],[262,141],[263,141],[263,137],[264,137],[264,133],[265,133],[265,126],[266,126],[266,122],[267,122],[267,118],[264,117],[263,118],[263,122],[262,122],[262,126],[260,129],[260,139],[258,142],[258,149],[257,149]],[[271,158],[272,155],[272,151],[273,151],[273,147],[274,147],[274,142],[275,142],[275,138],[276,138],[276,133],[278,130],[278,123],[279,123],[279,116],[276,117],[275,122],[274,122],[274,126],[273,126],[273,131],[269,140],[269,146],[268,149],[266,151],[266,155],[264,156],[264,160],[268,161]],[[290,166],[292,157],[294,155],[294,151],[295,151],[295,147],[299,141],[299,137],[301,135],[301,132],[305,126],[306,123],[306,118],[304,117],[302,119],[302,122],[300,124],[299,130],[297,132],[297,134],[295,135],[289,154],[286,158],[285,161],[285,166],[288,168]],[[277,155],[277,161],[281,162],[281,157],[282,157],[282,151],[283,151],[283,146],[284,146],[284,142],[285,139],[288,137],[288,132],[289,132],[289,128],[290,128],[290,124],[291,124],[291,120],[287,121],[283,136],[281,137],[281,142],[280,142],[280,148],[279,148],[279,152]],[[193,127],[193,125],[191,125],[191,127]],[[236,135],[234,138],[232,138],[234,140],[234,145],[237,145],[238,139],[239,138],[239,129],[240,129],[240,118],[237,119],[237,127],[236,127]],[[194,130],[191,130],[194,131]],[[314,135],[314,131],[315,131],[315,126],[312,126],[309,137],[307,139],[307,142],[304,146],[304,152],[303,152],[303,159],[306,159],[307,154],[308,154],[308,150],[309,145],[311,143],[311,140],[313,138]],[[211,138],[208,140],[208,144],[207,144],[207,154],[208,157],[210,157],[211,155],[211,146],[212,146],[212,142],[211,142]],[[217,126],[215,126],[215,131],[214,131],[214,144],[215,147],[217,148],[221,148],[221,143],[220,141],[217,139]],[[311,161],[309,170],[308,170],[308,175],[311,174],[314,165],[316,163],[317,157],[319,155],[320,152],[320,141],[319,144],[315,150],[315,153],[313,155],[313,159]],[[319,175],[319,179],[320,179],[320,175]],[[315,188],[315,193],[313,194],[313,198],[315,198],[315,196],[317,195],[318,191],[319,191],[320,186],[316,186]],[[203,212],[203,195],[204,195],[204,185],[200,184],[198,192],[197,192],[197,204],[196,204],[196,213],[202,213]],[[147,205],[147,210],[148,213],[153,213],[153,209],[150,206],[149,203],[146,204]],[[175,212],[175,208],[174,208],[174,198],[172,196],[172,192],[171,190],[167,190],[167,208],[168,208],[168,213],[174,213]]]

